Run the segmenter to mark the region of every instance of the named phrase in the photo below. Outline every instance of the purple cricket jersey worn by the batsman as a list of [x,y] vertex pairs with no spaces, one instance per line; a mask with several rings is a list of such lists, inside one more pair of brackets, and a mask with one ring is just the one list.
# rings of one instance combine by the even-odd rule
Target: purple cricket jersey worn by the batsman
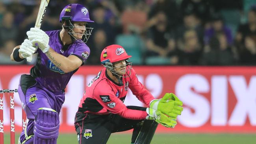
[[[60,30],[46,31],[46,34],[50,37],[49,46],[55,50],[55,52],[65,57],[76,55],[84,63],[85,59],[87,59],[90,54],[89,47],[85,43],[79,41],[74,41],[68,46],[63,46],[59,33]],[[55,66],[39,48],[37,49],[37,52],[37,63],[31,68],[30,74],[41,86],[52,92],[64,90],[71,76],[78,69],[64,73],[61,69]]]

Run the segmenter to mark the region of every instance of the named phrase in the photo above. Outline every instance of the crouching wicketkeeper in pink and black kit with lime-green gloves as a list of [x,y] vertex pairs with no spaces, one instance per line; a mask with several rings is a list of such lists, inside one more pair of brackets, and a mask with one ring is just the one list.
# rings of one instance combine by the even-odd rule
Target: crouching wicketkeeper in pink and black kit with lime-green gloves
[[[85,88],[75,116],[78,144],[106,144],[111,133],[130,129],[132,144],[150,144],[158,123],[176,126],[182,102],[172,93],[155,99],[138,81],[130,57],[120,45],[103,49],[104,68]],[[124,105],[128,88],[147,107]]]

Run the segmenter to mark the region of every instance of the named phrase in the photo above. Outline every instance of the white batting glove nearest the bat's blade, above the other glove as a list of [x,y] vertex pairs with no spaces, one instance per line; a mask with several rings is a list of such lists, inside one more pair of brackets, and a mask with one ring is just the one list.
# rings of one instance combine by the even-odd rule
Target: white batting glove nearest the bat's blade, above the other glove
[[50,48],[48,45],[49,36],[45,33],[45,31],[40,30],[39,28],[30,28],[30,31],[27,31],[27,35],[33,46],[38,45],[43,53],[48,52]]

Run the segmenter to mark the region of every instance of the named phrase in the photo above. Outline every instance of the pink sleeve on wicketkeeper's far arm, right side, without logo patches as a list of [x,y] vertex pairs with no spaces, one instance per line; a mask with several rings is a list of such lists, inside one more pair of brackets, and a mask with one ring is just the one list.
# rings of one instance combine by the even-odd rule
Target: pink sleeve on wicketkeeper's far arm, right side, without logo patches
[[143,102],[148,107],[150,101],[155,99],[145,86],[139,82],[134,69],[131,69],[130,83],[128,87],[132,91],[132,94],[134,94],[139,101]]

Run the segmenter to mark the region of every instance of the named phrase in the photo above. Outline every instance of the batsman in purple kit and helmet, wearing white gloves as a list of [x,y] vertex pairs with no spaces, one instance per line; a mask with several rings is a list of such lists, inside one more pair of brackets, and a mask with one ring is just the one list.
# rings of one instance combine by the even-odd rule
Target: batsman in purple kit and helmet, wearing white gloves
[[93,28],[88,27],[89,11],[80,4],[69,4],[61,11],[61,30],[31,28],[28,39],[16,46],[13,61],[23,61],[38,53],[30,74],[20,77],[19,97],[26,111],[28,125],[19,144],[56,144],[59,112],[65,100],[65,87],[71,76],[89,57],[85,44]]

